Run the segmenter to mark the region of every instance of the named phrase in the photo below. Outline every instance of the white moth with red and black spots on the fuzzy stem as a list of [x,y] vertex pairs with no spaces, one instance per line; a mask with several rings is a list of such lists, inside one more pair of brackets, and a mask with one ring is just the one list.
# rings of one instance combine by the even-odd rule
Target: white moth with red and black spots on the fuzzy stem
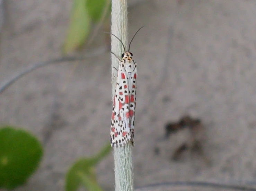
[[[132,40],[139,30],[136,31]],[[122,43],[124,53],[122,59],[119,59],[111,52],[119,60],[119,68],[113,98],[110,143],[112,147],[122,147],[130,141],[134,146],[137,63],[132,59],[133,54],[130,52],[132,40],[126,51],[123,42],[114,34],[112,35]]]

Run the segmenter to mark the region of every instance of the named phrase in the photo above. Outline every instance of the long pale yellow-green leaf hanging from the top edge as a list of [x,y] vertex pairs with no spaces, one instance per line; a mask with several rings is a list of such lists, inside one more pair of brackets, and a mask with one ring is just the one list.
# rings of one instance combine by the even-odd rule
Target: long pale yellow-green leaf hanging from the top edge
[[63,45],[64,54],[81,47],[89,35],[91,24],[85,3],[86,0],[73,1],[68,34]]

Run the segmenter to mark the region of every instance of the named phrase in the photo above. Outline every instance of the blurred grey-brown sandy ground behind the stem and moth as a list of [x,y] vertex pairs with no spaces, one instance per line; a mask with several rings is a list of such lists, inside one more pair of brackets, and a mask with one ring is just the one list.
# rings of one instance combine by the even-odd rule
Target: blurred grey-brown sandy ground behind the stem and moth
[[[71,0],[8,0],[0,44],[0,81],[61,56]],[[166,181],[245,182],[256,177],[256,3],[253,0],[148,0],[129,9],[131,52],[138,63],[135,186]],[[91,51],[105,46],[104,34]],[[89,50],[88,50],[89,51]],[[85,51],[87,52],[87,51]],[[40,168],[16,191],[62,191],[67,169],[109,139],[110,54],[47,66],[0,96],[0,122],[28,129],[44,145]],[[63,88],[66,87],[65,90]],[[170,155],[179,136],[163,141],[164,125],[200,118],[211,165],[192,152]],[[159,148],[159,154],[154,150]],[[114,188],[110,154],[98,168]]]

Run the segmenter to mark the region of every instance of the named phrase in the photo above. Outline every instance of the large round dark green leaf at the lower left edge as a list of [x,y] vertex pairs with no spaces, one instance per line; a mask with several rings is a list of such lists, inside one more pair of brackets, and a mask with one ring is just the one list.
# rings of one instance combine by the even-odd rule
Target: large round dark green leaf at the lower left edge
[[0,188],[14,189],[24,184],[36,170],[43,149],[39,141],[22,129],[0,129]]

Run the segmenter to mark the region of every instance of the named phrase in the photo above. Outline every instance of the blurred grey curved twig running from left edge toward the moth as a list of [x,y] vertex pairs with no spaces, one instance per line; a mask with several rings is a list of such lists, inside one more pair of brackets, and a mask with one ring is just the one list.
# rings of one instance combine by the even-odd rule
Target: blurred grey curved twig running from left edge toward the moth
[[21,77],[25,76],[26,74],[28,74],[28,73],[30,73],[30,72],[38,69],[38,68],[42,68],[42,67],[48,66],[50,64],[63,63],[63,62],[72,62],[72,61],[77,61],[77,60],[85,60],[87,58],[98,56],[98,55],[106,52],[106,50],[107,50],[107,47],[103,47],[103,48],[99,48],[97,51],[90,52],[87,55],[82,56],[82,57],[77,57],[77,56],[61,57],[61,58],[51,59],[51,60],[47,60],[45,62],[37,63],[34,66],[29,67],[29,68],[25,69],[24,71],[18,73],[16,76],[12,77],[10,80],[7,80],[6,83],[4,83],[3,85],[0,86],[0,93],[5,91],[9,86],[11,86],[11,84],[16,82]]

